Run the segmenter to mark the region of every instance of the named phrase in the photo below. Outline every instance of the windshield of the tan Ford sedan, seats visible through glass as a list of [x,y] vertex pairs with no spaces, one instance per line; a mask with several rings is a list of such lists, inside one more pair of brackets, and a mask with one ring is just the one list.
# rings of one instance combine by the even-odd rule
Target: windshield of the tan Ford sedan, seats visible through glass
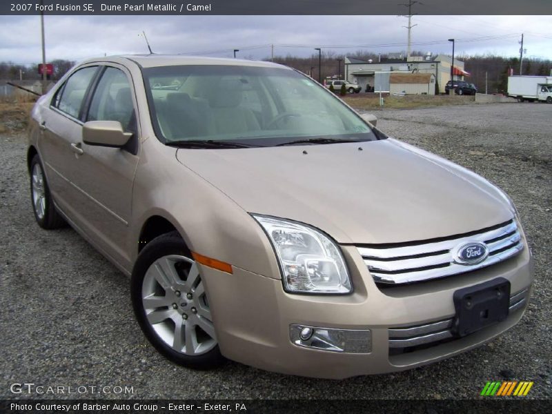
[[311,138],[313,144],[385,138],[295,70],[185,65],[143,72],[155,132],[165,144],[275,146],[308,144]]

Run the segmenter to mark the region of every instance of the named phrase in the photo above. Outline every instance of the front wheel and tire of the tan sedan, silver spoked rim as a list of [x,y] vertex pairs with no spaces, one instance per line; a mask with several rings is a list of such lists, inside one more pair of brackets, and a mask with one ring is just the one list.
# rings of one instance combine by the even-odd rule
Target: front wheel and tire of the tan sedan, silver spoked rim
[[132,270],[132,306],[142,332],[167,359],[195,369],[224,362],[196,262],[177,232],[152,240]]

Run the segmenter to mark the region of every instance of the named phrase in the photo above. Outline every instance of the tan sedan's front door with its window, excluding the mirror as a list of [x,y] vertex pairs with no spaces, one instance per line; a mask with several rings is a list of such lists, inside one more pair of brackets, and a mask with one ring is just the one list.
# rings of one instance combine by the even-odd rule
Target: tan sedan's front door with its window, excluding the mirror
[[137,106],[130,73],[106,66],[86,105],[85,121],[118,121],[132,137],[124,148],[80,142],[82,155],[71,177],[83,193],[79,212],[86,233],[97,246],[123,266],[130,264],[128,224],[132,213],[132,184],[138,164]]

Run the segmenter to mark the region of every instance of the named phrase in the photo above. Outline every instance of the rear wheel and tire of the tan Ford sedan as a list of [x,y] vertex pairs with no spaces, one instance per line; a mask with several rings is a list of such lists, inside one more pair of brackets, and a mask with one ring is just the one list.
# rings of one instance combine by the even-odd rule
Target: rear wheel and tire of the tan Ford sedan
[[56,210],[38,154],[30,161],[30,201],[34,219],[41,228],[53,230],[66,225]]

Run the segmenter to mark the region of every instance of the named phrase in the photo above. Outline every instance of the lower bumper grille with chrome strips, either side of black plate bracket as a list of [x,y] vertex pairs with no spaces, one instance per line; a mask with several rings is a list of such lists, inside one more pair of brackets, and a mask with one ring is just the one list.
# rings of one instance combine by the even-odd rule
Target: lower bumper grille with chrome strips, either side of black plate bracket
[[[527,300],[529,289],[511,295],[509,313],[522,308]],[[453,318],[423,325],[389,328],[389,351],[391,354],[417,351],[421,348],[441,344],[451,340]]]

